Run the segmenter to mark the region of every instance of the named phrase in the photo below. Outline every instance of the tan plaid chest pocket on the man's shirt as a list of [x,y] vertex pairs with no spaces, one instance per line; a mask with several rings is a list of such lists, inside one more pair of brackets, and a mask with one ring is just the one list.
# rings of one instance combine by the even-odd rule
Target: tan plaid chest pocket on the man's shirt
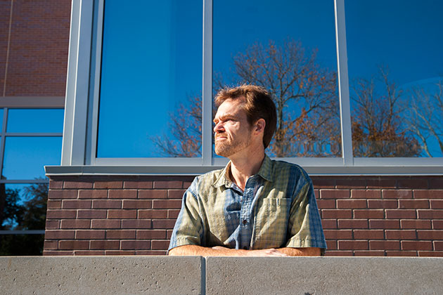
[[278,248],[286,242],[290,198],[264,198],[257,202],[253,249]]

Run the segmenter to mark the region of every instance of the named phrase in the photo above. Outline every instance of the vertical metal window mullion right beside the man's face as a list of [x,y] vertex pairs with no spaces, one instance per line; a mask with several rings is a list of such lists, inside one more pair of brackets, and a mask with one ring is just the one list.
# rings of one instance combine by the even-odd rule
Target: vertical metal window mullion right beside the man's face
[[203,165],[212,165],[212,0],[203,0]]

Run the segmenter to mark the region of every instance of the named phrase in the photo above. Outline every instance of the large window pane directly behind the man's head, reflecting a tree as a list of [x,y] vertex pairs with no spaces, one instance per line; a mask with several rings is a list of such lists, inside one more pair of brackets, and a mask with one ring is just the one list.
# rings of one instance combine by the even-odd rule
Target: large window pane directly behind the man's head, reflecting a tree
[[333,1],[214,0],[214,92],[258,84],[270,91],[275,157],[340,157]]

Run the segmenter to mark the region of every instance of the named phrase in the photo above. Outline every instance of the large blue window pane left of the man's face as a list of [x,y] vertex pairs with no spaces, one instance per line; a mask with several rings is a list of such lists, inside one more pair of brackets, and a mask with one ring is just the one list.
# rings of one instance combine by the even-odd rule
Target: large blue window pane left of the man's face
[[105,1],[97,157],[201,155],[202,1]]

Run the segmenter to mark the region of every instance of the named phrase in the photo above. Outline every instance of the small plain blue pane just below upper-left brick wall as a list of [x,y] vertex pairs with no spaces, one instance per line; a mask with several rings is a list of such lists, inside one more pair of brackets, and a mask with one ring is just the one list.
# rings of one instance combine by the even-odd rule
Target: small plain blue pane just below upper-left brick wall
[[9,109],[7,132],[62,133],[63,109]]

